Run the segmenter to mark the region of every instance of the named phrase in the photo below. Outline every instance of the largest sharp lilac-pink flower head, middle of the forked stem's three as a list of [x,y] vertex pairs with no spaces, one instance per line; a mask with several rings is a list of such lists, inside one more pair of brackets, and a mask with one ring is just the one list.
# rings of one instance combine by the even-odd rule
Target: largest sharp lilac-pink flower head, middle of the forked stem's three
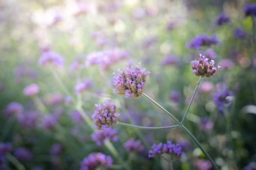
[[142,90],[146,82],[146,77],[150,74],[145,68],[140,68],[140,63],[136,68],[126,68],[125,71],[118,70],[114,75],[114,93],[124,95],[126,98],[138,98],[142,95]]

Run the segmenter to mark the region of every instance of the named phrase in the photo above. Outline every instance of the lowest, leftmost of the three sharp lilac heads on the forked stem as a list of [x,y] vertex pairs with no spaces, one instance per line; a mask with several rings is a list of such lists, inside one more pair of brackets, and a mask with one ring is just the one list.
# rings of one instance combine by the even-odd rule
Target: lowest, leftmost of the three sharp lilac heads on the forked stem
[[106,100],[101,104],[95,104],[96,110],[92,115],[95,119],[94,125],[97,129],[108,128],[113,123],[117,123],[119,113],[116,112],[116,105],[113,102]]

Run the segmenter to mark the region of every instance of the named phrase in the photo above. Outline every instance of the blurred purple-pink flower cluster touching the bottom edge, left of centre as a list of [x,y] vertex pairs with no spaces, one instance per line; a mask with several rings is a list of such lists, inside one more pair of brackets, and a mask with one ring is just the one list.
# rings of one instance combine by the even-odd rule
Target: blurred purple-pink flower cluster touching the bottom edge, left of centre
[[80,162],[80,170],[95,170],[99,165],[107,168],[112,162],[111,156],[103,153],[91,153]]

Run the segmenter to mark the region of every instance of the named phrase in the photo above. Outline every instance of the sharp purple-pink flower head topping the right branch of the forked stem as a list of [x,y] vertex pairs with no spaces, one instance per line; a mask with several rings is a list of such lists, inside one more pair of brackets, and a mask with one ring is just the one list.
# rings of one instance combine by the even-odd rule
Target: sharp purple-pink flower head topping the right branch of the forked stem
[[211,60],[208,62],[208,58],[205,58],[204,55],[199,54],[199,60],[191,61],[191,66],[193,69],[193,72],[197,76],[206,76],[210,77],[216,73],[216,71],[220,68],[219,66],[214,67],[214,60]]

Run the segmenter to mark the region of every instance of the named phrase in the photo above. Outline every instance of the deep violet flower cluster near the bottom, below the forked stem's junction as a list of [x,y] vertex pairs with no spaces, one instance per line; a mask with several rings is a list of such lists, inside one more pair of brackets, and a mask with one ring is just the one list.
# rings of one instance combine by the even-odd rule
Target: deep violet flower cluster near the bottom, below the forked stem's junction
[[152,150],[148,152],[149,158],[163,153],[170,153],[173,154],[175,158],[180,158],[184,154],[181,152],[181,146],[178,143],[172,144],[172,142],[169,140],[164,144],[162,142],[160,142],[158,145],[153,144],[151,148]]

